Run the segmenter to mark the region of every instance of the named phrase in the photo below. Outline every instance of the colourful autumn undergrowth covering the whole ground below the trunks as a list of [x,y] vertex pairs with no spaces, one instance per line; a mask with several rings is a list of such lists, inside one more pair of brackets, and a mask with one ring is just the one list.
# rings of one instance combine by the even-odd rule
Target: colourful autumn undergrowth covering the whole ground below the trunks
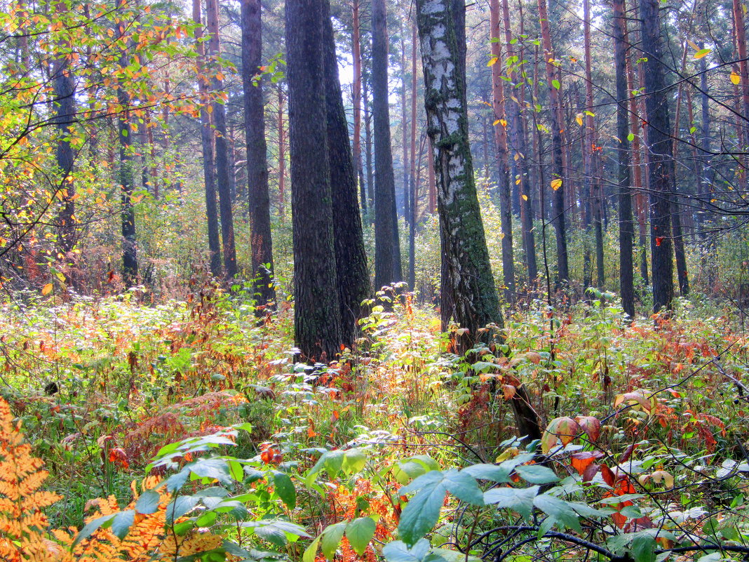
[[[749,552],[749,345],[727,313],[684,301],[630,322],[613,294],[536,300],[503,345],[458,357],[407,295],[371,303],[354,348],[309,366],[291,303],[258,318],[243,285],[146,296],[2,309],[1,396],[49,471],[49,528],[73,529],[46,534],[49,552],[83,559],[82,541],[127,540],[146,516],[146,558],[121,559],[178,559],[198,537],[189,559]],[[540,441],[516,440],[521,387]]]

